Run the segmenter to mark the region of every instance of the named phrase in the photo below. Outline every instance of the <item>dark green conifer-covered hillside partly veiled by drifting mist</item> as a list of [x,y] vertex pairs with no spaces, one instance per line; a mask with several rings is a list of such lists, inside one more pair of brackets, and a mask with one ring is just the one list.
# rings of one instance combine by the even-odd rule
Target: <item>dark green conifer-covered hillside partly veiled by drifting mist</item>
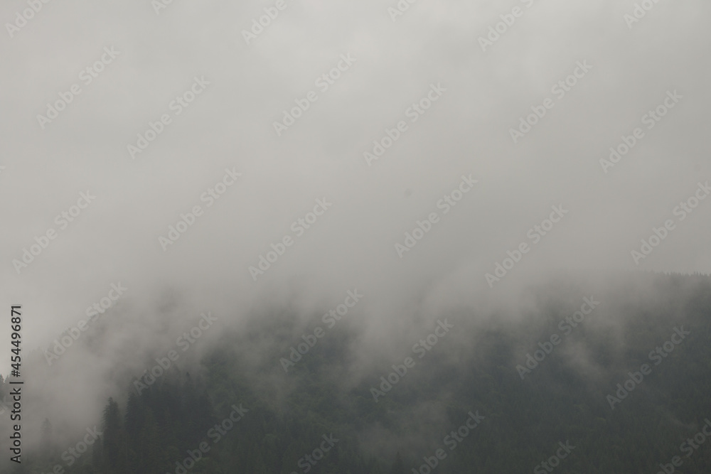
[[[255,318],[225,331],[197,373],[173,365],[116,393],[72,465],[74,441],[57,441],[48,419],[43,446],[6,472],[631,474],[675,462],[675,472],[709,473],[711,281],[635,278],[653,291],[636,293],[633,281],[606,294],[541,293],[515,321],[453,313],[454,329],[421,359],[404,348],[366,373],[355,369],[358,325],[334,329],[284,372],[294,340],[279,328],[293,323]],[[407,355],[415,365],[387,389],[380,377]]]

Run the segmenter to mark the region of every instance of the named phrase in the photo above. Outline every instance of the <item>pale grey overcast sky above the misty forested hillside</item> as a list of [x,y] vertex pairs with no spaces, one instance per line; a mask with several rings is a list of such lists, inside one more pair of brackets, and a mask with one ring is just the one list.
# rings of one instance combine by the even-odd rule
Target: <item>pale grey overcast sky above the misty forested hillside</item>
[[[275,4],[50,1],[26,24],[26,2],[0,6],[2,23],[24,24],[0,32],[0,307],[23,306],[25,350],[119,283],[142,318],[177,291],[183,325],[288,298],[318,312],[355,288],[387,324],[413,301],[474,305],[562,270],[709,271],[711,199],[694,200],[711,192],[699,187],[711,180],[707,1],[662,1],[638,21],[632,1],[403,0],[402,15],[394,0]],[[276,18],[243,33],[265,8]],[[194,100],[178,107],[183,95]],[[309,108],[277,133],[297,101]],[[131,151],[151,122],[161,133]],[[364,157],[386,129],[395,143]],[[601,162],[623,140],[631,151]],[[232,184],[211,201],[217,183]],[[318,200],[327,210],[298,230]],[[554,206],[563,217],[539,234]],[[653,227],[665,238],[635,262]],[[285,236],[269,269],[250,272]],[[36,237],[46,248],[20,264]]]

